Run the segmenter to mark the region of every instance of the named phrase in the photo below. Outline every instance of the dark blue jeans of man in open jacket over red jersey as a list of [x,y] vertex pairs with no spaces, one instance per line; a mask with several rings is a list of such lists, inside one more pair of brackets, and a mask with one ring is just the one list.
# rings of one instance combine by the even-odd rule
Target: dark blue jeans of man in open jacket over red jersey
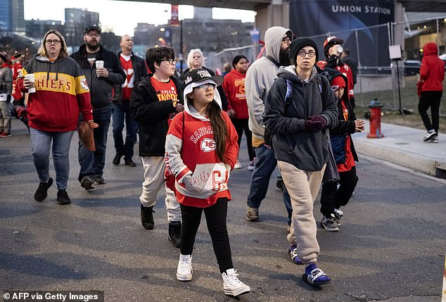
[[[125,158],[132,159],[138,123],[130,115],[129,106],[129,100],[122,100],[120,105],[113,104],[113,140],[115,141],[116,153],[122,154]],[[124,121],[126,129],[125,144],[122,139]]]

